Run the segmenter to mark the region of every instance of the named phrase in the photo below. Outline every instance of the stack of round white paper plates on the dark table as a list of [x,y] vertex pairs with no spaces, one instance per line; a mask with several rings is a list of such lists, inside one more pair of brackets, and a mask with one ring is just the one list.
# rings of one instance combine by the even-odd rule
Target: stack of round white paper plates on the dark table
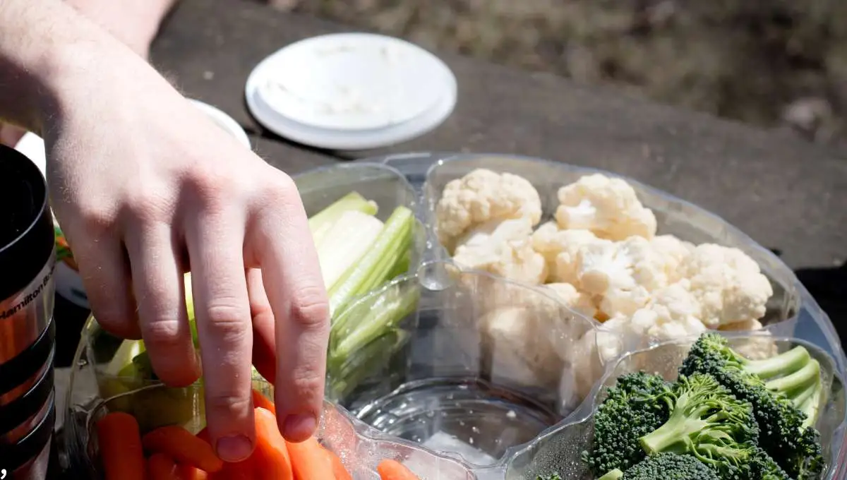
[[456,77],[435,55],[389,36],[344,33],[275,52],[246,83],[268,130],[310,146],[359,150],[435,129],[456,106]]

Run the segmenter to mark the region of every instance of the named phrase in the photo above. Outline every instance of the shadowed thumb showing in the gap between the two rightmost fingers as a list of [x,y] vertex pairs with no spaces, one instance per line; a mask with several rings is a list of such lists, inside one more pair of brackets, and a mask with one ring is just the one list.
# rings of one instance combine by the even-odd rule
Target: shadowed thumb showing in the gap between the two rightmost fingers
[[253,367],[264,377],[276,378],[276,339],[274,312],[262,282],[262,271],[247,270],[247,294],[250,296],[250,316],[253,319]]

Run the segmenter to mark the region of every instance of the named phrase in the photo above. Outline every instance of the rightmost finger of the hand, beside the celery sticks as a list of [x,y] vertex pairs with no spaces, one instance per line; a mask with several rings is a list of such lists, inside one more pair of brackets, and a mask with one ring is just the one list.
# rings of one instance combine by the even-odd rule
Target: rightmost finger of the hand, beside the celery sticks
[[302,441],[313,434],[324,398],[329,306],[318,254],[293,182],[284,198],[252,226],[252,244],[274,311],[275,400],[280,432]]

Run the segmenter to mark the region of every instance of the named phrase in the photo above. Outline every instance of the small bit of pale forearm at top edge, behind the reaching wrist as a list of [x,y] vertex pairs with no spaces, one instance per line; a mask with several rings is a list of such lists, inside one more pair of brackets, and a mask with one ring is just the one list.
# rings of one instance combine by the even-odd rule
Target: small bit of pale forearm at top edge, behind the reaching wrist
[[177,0],[65,0],[147,58],[159,25]]

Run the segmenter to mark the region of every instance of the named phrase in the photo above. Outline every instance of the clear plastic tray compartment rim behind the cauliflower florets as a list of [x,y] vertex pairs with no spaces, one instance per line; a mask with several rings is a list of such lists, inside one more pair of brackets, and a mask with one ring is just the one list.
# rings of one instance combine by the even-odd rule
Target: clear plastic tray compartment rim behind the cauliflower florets
[[[821,346],[836,359],[838,371],[844,372],[844,353],[838,334],[835,333],[827,315],[811,298],[808,290],[800,284],[794,272],[776,255],[759,246],[748,235],[717,215],[706,212],[688,201],[622,175],[538,158],[487,154],[420,154],[418,157],[411,155],[386,157],[383,161],[396,165],[401,171],[409,168],[409,178],[418,182],[421,179],[422,164],[429,166],[424,177],[424,185],[415,186],[424,192],[423,203],[427,206],[429,214],[427,224],[430,225],[430,229],[435,229],[435,204],[439,201],[445,185],[452,179],[462,178],[477,168],[518,174],[528,179],[541,197],[544,214],[541,223],[552,219],[558,206],[556,193],[560,187],[587,174],[601,173],[625,179],[633,186],[645,207],[649,207],[656,214],[658,234],[674,234],[682,240],[695,244],[716,243],[736,247],[752,257],[773,287],[767,313],[761,319],[767,331],[777,336],[796,336],[807,339]],[[434,232],[430,232],[429,236],[437,239]],[[435,253],[442,258],[447,255],[444,249],[437,249]],[[625,345],[625,348],[635,350],[645,346],[647,345],[634,344]]]

